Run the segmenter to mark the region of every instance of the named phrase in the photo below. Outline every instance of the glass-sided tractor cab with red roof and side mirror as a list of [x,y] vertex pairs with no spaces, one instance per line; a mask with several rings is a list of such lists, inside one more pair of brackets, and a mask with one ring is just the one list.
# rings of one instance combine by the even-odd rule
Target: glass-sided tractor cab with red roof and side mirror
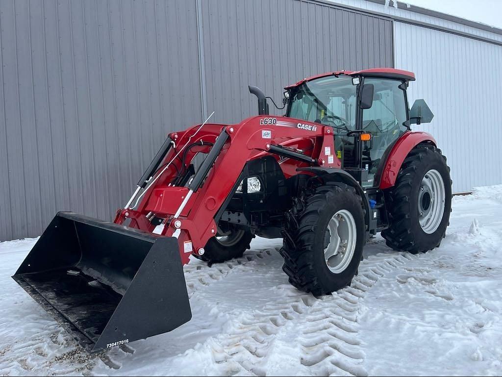
[[386,152],[410,130],[406,88],[412,80],[412,72],[390,68],[313,76],[285,88],[286,116],[331,127],[342,169],[361,186],[376,187]]

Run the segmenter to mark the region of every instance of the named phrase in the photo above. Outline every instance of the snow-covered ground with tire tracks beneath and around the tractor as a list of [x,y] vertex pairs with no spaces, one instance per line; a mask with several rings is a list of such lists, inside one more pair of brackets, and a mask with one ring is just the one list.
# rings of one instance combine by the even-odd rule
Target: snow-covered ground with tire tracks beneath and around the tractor
[[35,239],[0,243],[0,375],[502,375],[502,186],[453,198],[441,247],[373,238],[351,287],[323,298],[281,271],[281,240],[185,267],[193,319],[88,355],[10,278]]

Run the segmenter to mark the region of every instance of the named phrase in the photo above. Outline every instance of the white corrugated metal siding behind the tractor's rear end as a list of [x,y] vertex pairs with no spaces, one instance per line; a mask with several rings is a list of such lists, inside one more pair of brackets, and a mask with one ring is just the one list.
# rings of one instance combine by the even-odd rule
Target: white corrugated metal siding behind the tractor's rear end
[[417,76],[410,106],[424,98],[435,115],[414,129],[436,137],[448,157],[453,191],[502,183],[502,47],[398,22],[394,35],[396,67]]

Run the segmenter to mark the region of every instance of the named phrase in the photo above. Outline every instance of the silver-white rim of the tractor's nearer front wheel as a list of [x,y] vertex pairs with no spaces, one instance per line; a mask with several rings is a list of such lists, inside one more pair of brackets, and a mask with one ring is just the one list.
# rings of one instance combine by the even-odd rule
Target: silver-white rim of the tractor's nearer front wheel
[[324,244],[324,260],[332,273],[340,274],[354,256],[357,229],[352,214],[340,209],[329,220]]

